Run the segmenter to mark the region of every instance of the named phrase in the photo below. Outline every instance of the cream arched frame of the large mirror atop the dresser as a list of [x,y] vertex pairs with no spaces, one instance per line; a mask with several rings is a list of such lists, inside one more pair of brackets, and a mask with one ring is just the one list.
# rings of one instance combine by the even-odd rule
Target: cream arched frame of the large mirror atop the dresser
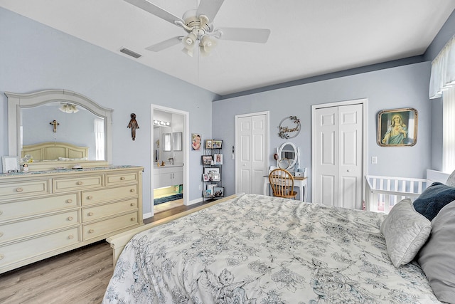
[[[106,159],[87,160],[83,164],[87,167],[111,164],[112,162],[112,109],[103,108],[90,98],[70,90],[42,90],[36,93],[19,94],[5,92],[8,98],[8,153],[9,155],[21,155],[21,109],[33,108],[46,103],[73,103],[80,105],[94,115],[105,118],[106,130]],[[80,161],[79,161],[80,162]],[[53,169],[62,162],[33,162],[35,169]],[[73,162],[65,162],[66,165]]]

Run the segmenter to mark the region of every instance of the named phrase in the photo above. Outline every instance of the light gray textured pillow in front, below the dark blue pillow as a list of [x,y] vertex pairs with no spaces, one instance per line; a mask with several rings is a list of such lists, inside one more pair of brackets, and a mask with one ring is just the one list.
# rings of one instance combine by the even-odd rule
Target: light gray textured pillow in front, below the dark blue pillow
[[431,230],[431,222],[415,211],[411,199],[395,204],[380,227],[393,266],[410,263],[427,241]]

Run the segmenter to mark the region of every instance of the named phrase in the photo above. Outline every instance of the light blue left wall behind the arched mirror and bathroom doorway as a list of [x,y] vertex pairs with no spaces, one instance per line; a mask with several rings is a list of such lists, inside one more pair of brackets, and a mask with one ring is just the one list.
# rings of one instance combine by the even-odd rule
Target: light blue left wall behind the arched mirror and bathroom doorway
[[[1,155],[8,154],[5,91],[67,89],[81,93],[114,110],[113,164],[145,167],[146,214],[151,211],[151,104],[189,112],[189,132],[211,137],[208,117],[216,98],[213,93],[1,8],[0,46]],[[140,126],[135,141],[127,128],[132,112]],[[199,199],[200,152],[191,152],[189,172],[189,198]]]

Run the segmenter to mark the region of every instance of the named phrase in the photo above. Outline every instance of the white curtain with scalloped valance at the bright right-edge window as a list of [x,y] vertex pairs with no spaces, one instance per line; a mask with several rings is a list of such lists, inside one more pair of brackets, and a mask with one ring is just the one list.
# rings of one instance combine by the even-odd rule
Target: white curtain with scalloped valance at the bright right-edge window
[[442,171],[455,169],[455,36],[432,62],[429,98],[442,97]]

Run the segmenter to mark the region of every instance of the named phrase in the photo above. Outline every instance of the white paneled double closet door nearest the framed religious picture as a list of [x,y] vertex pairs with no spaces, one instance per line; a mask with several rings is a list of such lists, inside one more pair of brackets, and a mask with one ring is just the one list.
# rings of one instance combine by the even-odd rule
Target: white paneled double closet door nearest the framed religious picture
[[362,200],[363,105],[317,108],[314,201],[355,209]]

